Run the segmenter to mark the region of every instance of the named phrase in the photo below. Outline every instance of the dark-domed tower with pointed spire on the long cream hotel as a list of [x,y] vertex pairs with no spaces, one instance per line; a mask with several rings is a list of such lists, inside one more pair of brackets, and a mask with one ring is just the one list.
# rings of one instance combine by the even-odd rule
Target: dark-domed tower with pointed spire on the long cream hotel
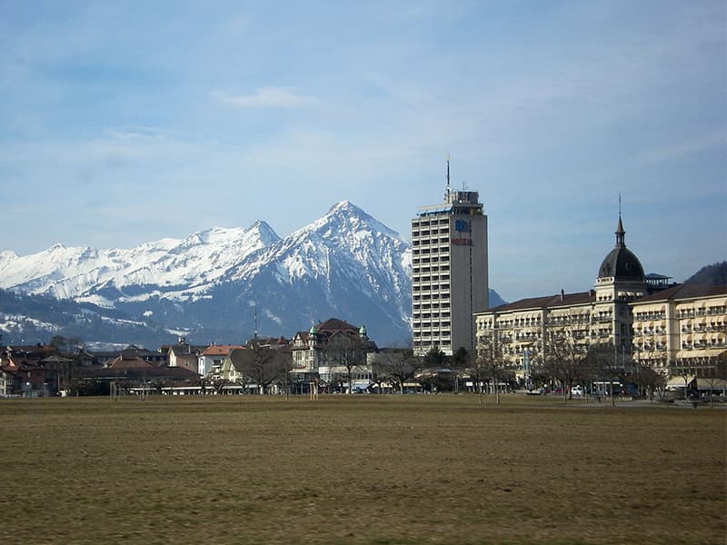
[[631,351],[632,342],[633,320],[629,302],[646,295],[647,290],[642,263],[626,248],[621,211],[615,234],[616,245],[603,258],[598,269],[593,323],[599,342],[615,342],[625,354]]

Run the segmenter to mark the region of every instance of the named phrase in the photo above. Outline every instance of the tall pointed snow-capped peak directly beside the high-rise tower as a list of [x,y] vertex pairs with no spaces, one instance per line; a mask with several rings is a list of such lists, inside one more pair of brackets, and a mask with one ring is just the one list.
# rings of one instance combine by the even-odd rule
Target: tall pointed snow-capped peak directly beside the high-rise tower
[[247,303],[257,306],[258,316],[262,310],[281,325],[292,315],[306,328],[337,316],[365,324],[380,342],[406,342],[410,336],[409,243],[347,201],[251,253],[227,279],[244,286]]

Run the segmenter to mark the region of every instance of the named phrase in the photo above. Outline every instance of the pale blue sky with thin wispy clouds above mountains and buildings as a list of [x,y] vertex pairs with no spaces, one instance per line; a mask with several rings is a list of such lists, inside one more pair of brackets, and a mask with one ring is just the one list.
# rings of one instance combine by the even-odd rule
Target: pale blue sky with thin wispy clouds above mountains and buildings
[[0,0],[0,251],[281,236],[349,200],[410,238],[480,192],[504,299],[590,289],[615,243],[727,259],[713,2]]

